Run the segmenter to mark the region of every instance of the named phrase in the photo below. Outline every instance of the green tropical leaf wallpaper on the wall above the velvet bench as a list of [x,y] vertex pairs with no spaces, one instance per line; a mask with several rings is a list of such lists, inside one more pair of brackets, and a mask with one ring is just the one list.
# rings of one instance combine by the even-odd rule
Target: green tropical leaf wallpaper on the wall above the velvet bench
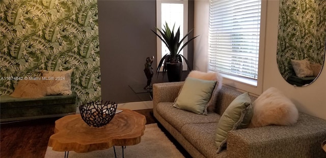
[[[96,0],[1,0],[0,76],[40,76],[73,69],[78,104],[99,100],[100,59]],[[11,94],[18,80],[0,80]]]

